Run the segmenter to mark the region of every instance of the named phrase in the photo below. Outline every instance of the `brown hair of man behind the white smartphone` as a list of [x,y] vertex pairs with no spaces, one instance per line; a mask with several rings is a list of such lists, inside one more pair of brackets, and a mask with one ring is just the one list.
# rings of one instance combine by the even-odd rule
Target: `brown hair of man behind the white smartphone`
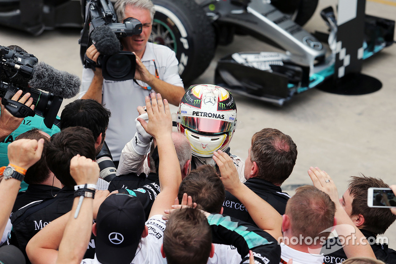
[[350,177],[348,190],[353,199],[351,215],[363,215],[363,229],[376,235],[383,234],[396,220],[396,215],[391,210],[367,206],[367,189],[370,187],[389,188],[388,184],[379,178],[366,177],[363,174]]

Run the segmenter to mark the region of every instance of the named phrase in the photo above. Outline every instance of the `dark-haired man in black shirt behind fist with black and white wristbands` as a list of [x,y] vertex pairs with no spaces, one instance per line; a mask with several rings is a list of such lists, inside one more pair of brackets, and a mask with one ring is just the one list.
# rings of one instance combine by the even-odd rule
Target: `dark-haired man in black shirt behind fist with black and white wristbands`
[[10,244],[17,246],[24,253],[27,263],[30,261],[25,248],[29,240],[49,222],[72,208],[76,183],[70,175],[69,165],[70,159],[77,154],[95,160],[95,140],[89,129],[69,127],[53,135],[47,147],[46,159],[49,169],[59,179],[63,188],[55,198],[34,202],[11,216],[13,231]]

